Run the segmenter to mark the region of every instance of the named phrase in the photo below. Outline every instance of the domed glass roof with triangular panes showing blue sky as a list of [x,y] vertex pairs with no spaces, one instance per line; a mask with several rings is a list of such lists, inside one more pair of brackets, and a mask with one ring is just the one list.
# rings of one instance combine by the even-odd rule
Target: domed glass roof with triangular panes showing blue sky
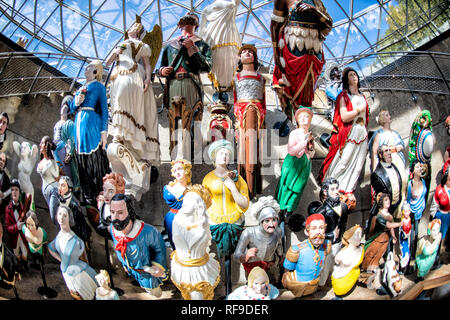
[[[98,55],[100,59],[105,59],[122,38],[123,31],[133,23],[136,14],[141,14],[147,30],[161,23],[163,40],[168,41],[179,35],[176,24],[182,15],[193,9],[201,16],[202,10],[213,1],[0,0],[4,12],[0,12],[0,30],[14,42],[22,36],[29,38],[26,48],[30,51],[50,50],[51,45],[53,50],[60,52],[82,53],[88,57]],[[450,8],[446,9],[438,0],[322,2],[334,22],[332,32],[325,40],[326,58],[374,50],[413,50],[449,29]],[[124,3],[125,8],[122,7]],[[439,4],[441,6],[437,7]],[[236,17],[243,42],[256,44],[261,52],[260,58],[267,63],[273,63],[268,32],[272,10],[273,1],[270,0],[241,0]],[[14,19],[15,23],[9,19]],[[33,40],[33,36],[37,39]],[[45,42],[46,45],[41,44]]]

